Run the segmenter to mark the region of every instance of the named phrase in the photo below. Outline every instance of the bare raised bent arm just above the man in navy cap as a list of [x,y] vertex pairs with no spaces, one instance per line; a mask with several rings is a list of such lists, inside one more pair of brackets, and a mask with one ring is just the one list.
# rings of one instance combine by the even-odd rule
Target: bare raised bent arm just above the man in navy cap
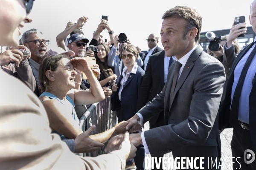
[[[65,42],[64,42],[64,39],[72,32],[74,31],[75,29],[77,28],[81,28],[82,26],[84,26],[84,24],[86,23],[86,21],[89,20],[89,18],[87,17],[81,17],[78,19],[77,23],[76,24],[73,24],[73,23],[67,23],[67,24],[71,24],[73,26],[69,27],[69,28],[66,28],[64,31],[62,31],[60,34],[57,35],[56,37],[56,42],[57,42],[57,45],[58,47],[61,47],[63,48],[65,51],[67,50],[67,47],[65,45]],[[68,27],[68,26],[67,26]]]

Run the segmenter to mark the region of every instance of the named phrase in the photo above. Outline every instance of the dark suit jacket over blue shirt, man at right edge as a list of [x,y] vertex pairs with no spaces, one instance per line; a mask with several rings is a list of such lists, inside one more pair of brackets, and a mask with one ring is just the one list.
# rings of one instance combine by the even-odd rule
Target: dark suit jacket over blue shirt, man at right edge
[[[239,61],[244,57],[244,54],[247,53],[247,51],[253,46],[253,43],[250,45],[247,45],[236,57],[231,73],[230,78],[227,82],[227,90],[226,90],[226,96],[221,108],[221,111],[219,113],[219,129],[223,128],[237,128],[239,126],[238,124],[238,117],[233,117],[233,115],[230,115],[230,105],[231,105],[231,93],[232,93],[232,86],[234,82],[234,70],[236,68],[236,65],[239,63]],[[229,50],[225,50],[227,57],[232,57],[235,54],[235,48],[231,47]],[[253,88],[251,90],[250,96],[249,96],[249,105],[250,105],[250,113],[249,113],[249,123],[250,123],[250,134],[251,139],[253,142],[254,148],[256,148],[256,83],[253,84]]]

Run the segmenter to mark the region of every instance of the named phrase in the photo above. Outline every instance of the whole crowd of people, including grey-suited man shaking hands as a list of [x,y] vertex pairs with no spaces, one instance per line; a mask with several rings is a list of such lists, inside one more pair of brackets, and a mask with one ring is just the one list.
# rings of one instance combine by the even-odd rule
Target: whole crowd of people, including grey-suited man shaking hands
[[[256,153],[256,39],[241,51],[236,41],[245,23],[233,24],[220,49],[207,54],[199,44],[201,15],[176,6],[164,12],[160,35],[145,38],[143,53],[104,19],[89,41],[82,31],[88,18],[80,17],[56,35],[58,47],[47,49],[49,40],[36,28],[16,40],[20,27],[32,22],[33,3],[1,1],[0,45],[9,48],[0,54],[0,169],[145,170],[145,153],[161,160],[169,152],[219,162],[220,132],[230,127],[233,168],[256,169],[256,162],[244,161],[245,150]],[[253,0],[249,18],[256,33],[255,14]],[[106,98],[118,124],[95,135],[95,125],[83,132],[79,118]],[[150,130],[142,132],[147,121]],[[109,139],[105,154],[73,154],[101,149]],[[211,159],[200,166],[207,169]]]

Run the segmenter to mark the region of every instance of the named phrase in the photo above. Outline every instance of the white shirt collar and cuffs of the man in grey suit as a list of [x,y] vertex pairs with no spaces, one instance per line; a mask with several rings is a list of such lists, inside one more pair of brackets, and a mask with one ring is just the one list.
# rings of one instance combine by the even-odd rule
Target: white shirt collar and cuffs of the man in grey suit
[[[185,66],[185,64],[186,64],[186,62],[187,62],[187,60],[189,59],[189,56],[192,54],[192,52],[193,52],[193,51],[195,50],[195,48],[197,48],[197,47],[198,47],[198,44],[196,44],[195,47],[194,47],[192,50],[190,50],[187,54],[185,54],[183,57],[181,57],[181,59],[178,60],[178,61],[182,64],[182,66],[181,66],[181,68],[180,68],[180,71],[179,71],[178,80],[179,80],[179,78],[180,78],[180,74],[181,74],[181,72],[183,71],[183,68],[184,68],[184,66]],[[178,80],[177,80],[177,81],[178,81]],[[136,114],[140,117],[139,123],[140,123],[140,125],[142,125],[143,122],[144,122],[143,116],[142,116],[139,112],[136,113]],[[149,153],[149,150],[148,150],[148,145],[147,145],[146,140],[145,140],[144,132],[145,132],[145,131],[143,131],[143,132],[141,133],[141,139],[142,139],[142,143],[143,143],[143,145],[144,145],[145,152],[146,152],[146,154],[148,154],[148,153]]]

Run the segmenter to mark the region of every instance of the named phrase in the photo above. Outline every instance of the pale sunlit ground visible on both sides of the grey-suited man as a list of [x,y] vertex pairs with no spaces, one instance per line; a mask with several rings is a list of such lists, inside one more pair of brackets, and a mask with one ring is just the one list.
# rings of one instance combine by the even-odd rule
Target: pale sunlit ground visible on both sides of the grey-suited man
[[[146,122],[145,123],[145,130],[149,129],[149,123]],[[230,147],[230,142],[232,139],[232,135],[233,135],[233,129],[225,129],[221,132],[221,159],[223,160],[223,163],[225,161],[225,167],[221,167],[221,170],[232,170],[232,161],[229,158],[232,158],[232,154],[231,154],[231,147]],[[164,157],[168,158],[172,156],[172,153],[167,153],[164,155]],[[151,155],[148,154],[146,155],[146,157],[150,157]],[[231,166],[230,166],[231,165]],[[151,170],[151,168],[149,168],[148,170]],[[174,170],[174,169],[171,169]]]

